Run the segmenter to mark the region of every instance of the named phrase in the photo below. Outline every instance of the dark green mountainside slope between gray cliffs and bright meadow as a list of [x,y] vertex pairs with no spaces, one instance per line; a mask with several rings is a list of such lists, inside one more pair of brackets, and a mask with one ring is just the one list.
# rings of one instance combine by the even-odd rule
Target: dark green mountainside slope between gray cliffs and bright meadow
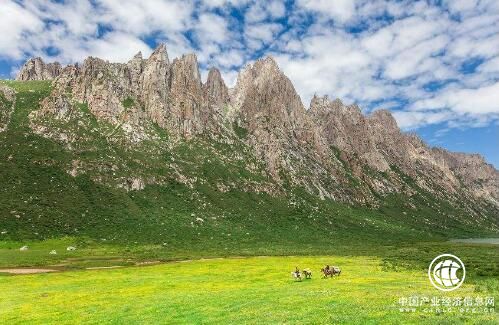
[[[380,210],[369,210],[322,201],[300,189],[270,196],[235,186],[223,193],[216,186],[220,181],[236,185],[241,180],[268,181],[262,173],[244,168],[254,159],[251,155],[226,163],[234,147],[204,138],[170,148],[162,145],[168,139],[161,130],[163,142],[123,149],[102,135],[109,126],[97,122],[84,104],[80,105],[82,120],[93,129],[54,124],[75,127],[81,133],[77,148],[69,151],[33,134],[28,125],[28,114],[49,94],[50,83],[5,83],[17,91],[17,102],[9,129],[0,133],[0,231],[6,232],[0,240],[67,235],[92,245],[161,245],[172,255],[184,256],[321,253],[332,244],[386,244],[487,233],[486,225],[468,224],[462,216],[448,217],[459,212],[426,196],[421,196],[416,210],[395,196],[384,199]],[[244,152],[243,147],[237,150]],[[66,171],[76,159],[97,167],[72,177]],[[194,189],[176,182],[168,168],[172,161],[203,181]],[[99,170],[113,164],[118,170]],[[127,192],[92,180],[121,174],[162,175],[166,181]],[[437,205],[447,217],[432,207]]]

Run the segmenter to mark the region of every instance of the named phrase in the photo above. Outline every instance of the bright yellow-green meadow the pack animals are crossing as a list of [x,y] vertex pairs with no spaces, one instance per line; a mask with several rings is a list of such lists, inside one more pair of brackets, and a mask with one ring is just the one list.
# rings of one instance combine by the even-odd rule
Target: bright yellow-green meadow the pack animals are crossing
[[[340,265],[322,279],[318,269]],[[298,265],[315,271],[294,282]],[[421,270],[374,257],[252,257],[0,277],[0,323],[446,323],[494,324],[497,313],[401,312],[410,296],[495,296],[480,281],[443,294]],[[494,281],[498,281],[494,279]],[[429,307],[429,303],[424,306]]]

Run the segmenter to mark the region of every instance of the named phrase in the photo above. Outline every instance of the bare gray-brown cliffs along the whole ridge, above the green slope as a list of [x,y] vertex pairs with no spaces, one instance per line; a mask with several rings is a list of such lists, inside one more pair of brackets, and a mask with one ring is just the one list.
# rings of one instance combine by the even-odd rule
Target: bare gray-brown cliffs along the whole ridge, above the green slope
[[[49,74],[48,65],[37,68],[36,60],[26,63],[20,80]],[[499,206],[499,174],[481,157],[430,148],[401,132],[387,110],[366,116],[356,105],[327,97],[314,97],[306,110],[272,58],[246,66],[230,90],[216,69],[203,83],[193,54],[170,62],[164,45],[147,59],[138,53],[120,64],[90,57],[50,75],[56,74],[31,126],[69,147],[78,137],[50,121],[78,123],[83,113],[77,107],[86,105],[98,122],[127,134],[120,146],[157,141],[149,130],[159,128],[168,143],[216,138],[233,146],[232,157],[251,152],[276,184],[267,189],[300,187],[369,205],[390,193],[410,201],[425,191],[470,209],[476,202]],[[224,159],[228,165],[237,160]]]

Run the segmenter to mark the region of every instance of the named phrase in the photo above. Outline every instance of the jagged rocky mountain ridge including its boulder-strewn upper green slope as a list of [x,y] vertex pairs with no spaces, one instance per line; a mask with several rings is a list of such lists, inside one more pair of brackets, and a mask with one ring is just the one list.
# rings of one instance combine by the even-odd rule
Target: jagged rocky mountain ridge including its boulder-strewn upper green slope
[[128,191],[172,179],[222,193],[299,189],[374,209],[396,197],[404,209],[451,206],[498,224],[499,172],[482,157],[429,147],[387,110],[365,115],[327,96],[306,109],[271,57],[247,65],[233,89],[217,69],[203,82],[194,54],[170,61],[164,44],[127,63],[31,59],[17,80],[52,78],[29,127],[73,153],[63,167],[72,177]]

